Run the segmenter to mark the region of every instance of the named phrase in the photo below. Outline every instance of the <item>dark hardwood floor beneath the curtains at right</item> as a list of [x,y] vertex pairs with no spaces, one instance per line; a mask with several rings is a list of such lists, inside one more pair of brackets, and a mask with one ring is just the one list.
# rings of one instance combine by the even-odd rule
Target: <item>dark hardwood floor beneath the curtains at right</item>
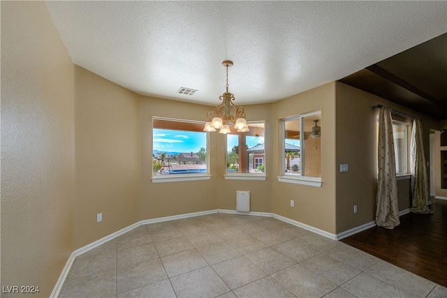
[[433,214],[405,214],[394,230],[376,226],[342,241],[447,287],[447,201],[432,202]]

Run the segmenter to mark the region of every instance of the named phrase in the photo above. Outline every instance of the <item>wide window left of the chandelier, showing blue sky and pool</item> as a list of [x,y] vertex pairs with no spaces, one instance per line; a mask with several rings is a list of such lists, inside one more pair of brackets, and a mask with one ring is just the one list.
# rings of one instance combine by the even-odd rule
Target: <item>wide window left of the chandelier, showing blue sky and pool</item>
[[154,118],[152,124],[152,177],[207,174],[202,122]]

